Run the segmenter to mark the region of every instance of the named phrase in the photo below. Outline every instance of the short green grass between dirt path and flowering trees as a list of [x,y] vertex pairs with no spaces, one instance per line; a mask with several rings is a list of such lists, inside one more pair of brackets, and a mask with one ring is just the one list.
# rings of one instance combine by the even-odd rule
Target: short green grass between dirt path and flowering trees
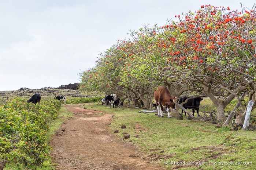
[[[255,131],[230,131],[231,127],[216,127],[211,121],[160,118],[126,107],[110,109],[97,103],[83,107],[113,113],[109,131],[119,130],[116,135],[120,139],[123,132],[128,132],[131,138],[123,140],[140,146],[145,157],[166,169],[255,169]],[[120,128],[123,124],[126,129]],[[156,160],[157,156],[162,159]],[[250,162],[252,165],[239,165]]]

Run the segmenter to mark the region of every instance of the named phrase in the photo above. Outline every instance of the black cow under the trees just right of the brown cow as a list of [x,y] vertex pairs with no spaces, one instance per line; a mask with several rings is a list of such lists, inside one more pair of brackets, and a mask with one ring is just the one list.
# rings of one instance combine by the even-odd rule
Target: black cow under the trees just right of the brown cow
[[[187,100],[187,98],[188,97],[186,97],[186,96],[181,97],[179,99],[179,104],[181,104],[182,102],[185,102]],[[203,98],[201,98],[201,97],[191,98],[191,99],[188,99],[187,103],[182,104],[182,106],[185,109],[192,109],[193,116],[194,116],[194,113],[196,110],[197,116],[199,116],[199,106],[200,106],[201,100],[203,100]],[[181,114],[183,114],[183,110],[181,110]],[[186,112],[185,112],[185,116],[186,116]]]

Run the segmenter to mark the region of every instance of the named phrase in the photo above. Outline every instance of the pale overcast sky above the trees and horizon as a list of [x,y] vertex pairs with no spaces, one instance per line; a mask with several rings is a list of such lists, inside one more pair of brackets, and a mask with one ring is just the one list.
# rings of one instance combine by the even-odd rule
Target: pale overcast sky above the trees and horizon
[[0,91],[79,82],[129,30],[163,26],[201,5],[251,9],[256,0],[0,0]]

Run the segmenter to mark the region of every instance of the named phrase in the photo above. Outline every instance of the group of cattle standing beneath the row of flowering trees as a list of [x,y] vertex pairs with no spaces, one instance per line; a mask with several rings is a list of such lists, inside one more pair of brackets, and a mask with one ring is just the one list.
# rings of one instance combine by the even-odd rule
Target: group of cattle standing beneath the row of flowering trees
[[[170,108],[176,110],[176,105],[181,105],[185,109],[192,109],[193,116],[196,110],[197,116],[199,116],[199,107],[200,102],[203,100],[202,97],[192,96],[192,97],[172,97],[169,90],[164,86],[158,86],[157,90],[154,91],[154,98],[156,104],[153,104],[153,107],[157,108],[157,115],[164,117],[163,111],[166,109],[168,113],[168,117],[171,118]],[[106,95],[104,98],[101,99],[102,105],[110,105],[110,108],[118,108],[123,106],[123,100],[120,101],[120,98],[116,97],[116,94]],[[145,107],[143,101],[139,100],[141,107]],[[183,114],[183,109],[181,110],[181,115]],[[186,112],[185,112],[186,116]]]

